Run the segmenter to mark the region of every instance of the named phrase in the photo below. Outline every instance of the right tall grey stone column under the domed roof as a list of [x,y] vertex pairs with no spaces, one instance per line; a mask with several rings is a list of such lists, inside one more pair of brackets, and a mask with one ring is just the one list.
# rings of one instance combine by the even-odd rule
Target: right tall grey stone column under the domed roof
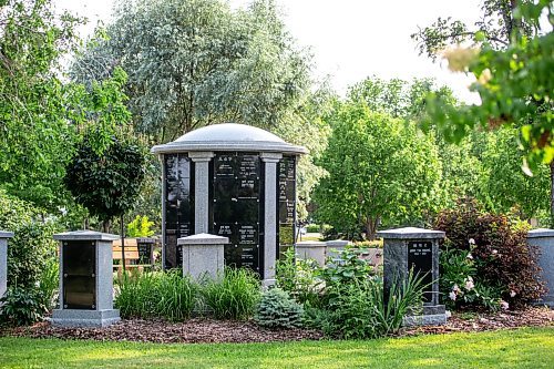
[[[275,262],[277,259],[277,163],[280,153],[261,153],[265,163],[264,178],[264,286],[275,284]],[[261,268],[260,268],[261,269]]]

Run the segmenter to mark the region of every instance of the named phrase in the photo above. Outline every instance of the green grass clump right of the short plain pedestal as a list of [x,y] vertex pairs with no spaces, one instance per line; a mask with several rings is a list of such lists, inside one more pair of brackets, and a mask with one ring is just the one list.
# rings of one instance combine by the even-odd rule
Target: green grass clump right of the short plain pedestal
[[202,289],[205,304],[217,319],[248,319],[259,301],[259,281],[244,268],[226,268],[223,276],[207,280]]

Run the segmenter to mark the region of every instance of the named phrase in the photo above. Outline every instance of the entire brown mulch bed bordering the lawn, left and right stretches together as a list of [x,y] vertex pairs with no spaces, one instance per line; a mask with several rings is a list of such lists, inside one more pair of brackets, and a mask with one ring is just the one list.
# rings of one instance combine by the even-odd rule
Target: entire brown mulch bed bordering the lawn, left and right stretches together
[[[554,327],[554,310],[527,308],[520,311],[496,314],[453,315],[444,326],[406,328],[398,336],[422,334],[450,334],[458,331],[485,331],[519,327]],[[0,336],[93,339],[142,342],[275,342],[319,340],[324,335],[317,330],[287,329],[268,330],[253,321],[189,319],[185,322],[162,320],[122,320],[113,326],[100,328],[58,328],[43,321],[32,327],[0,329]]]

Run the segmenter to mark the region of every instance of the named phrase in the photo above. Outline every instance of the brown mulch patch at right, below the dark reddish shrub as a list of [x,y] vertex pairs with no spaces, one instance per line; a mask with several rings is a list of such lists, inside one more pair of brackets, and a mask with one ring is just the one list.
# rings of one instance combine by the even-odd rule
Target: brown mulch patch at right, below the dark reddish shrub
[[517,311],[453,314],[444,326],[408,328],[403,329],[400,335],[437,335],[456,331],[514,329],[521,327],[554,327],[554,310],[545,307],[529,307]]

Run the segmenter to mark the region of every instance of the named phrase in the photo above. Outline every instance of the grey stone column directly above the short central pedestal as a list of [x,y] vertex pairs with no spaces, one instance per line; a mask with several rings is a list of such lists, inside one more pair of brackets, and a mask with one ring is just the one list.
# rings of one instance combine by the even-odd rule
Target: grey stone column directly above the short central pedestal
[[208,232],[209,206],[209,161],[213,152],[191,152],[188,157],[194,162],[194,233]]

